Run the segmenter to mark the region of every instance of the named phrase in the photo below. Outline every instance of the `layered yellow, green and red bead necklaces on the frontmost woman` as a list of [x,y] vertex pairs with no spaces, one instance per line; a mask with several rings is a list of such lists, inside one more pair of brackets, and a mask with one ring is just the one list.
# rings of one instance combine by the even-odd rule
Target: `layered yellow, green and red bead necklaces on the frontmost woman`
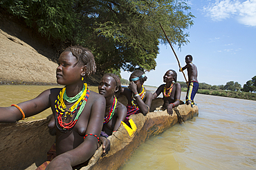
[[[86,90],[85,90],[86,89]],[[84,87],[82,88],[82,91],[78,93],[76,96],[68,98],[66,96],[66,87],[64,87],[60,94],[57,96],[57,99],[55,100],[55,125],[57,128],[62,131],[70,131],[75,126],[75,123],[77,123],[77,120],[82,113],[84,106],[86,105],[86,102],[89,98],[90,91],[87,88],[87,84],[84,83]],[[66,100],[68,103],[74,103],[69,109],[66,109],[66,105],[64,103],[64,100]],[[62,115],[64,115],[64,119],[66,120],[66,115],[69,114],[71,117],[73,117],[74,114],[75,118],[71,120],[69,123],[63,123]]]

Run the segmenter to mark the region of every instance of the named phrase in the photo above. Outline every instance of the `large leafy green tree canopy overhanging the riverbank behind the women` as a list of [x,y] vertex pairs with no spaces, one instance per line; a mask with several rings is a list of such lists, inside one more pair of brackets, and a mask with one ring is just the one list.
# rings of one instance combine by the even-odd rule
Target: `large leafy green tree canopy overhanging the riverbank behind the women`
[[[185,45],[194,16],[185,0],[2,0],[1,8],[62,46],[92,50],[97,71],[154,70],[159,43]],[[63,49],[60,49],[63,50]]]

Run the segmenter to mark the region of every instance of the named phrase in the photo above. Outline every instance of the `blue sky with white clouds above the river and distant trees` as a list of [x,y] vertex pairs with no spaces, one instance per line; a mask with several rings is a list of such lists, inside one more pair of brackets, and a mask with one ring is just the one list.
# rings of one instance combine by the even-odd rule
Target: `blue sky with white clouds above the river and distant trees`
[[[181,66],[191,54],[197,66],[199,83],[226,85],[228,81],[243,85],[256,75],[256,0],[250,1],[188,1],[190,12],[196,17],[189,30],[188,45],[174,50]],[[166,31],[166,30],[165,30]],[[185,81],[169,44],[159,45],[156,70],[146,72],[145,85],[163,84],[167,70],[178,73],[178,81]],[[185,76],[188,79],[187,71]],[[121,72],[129,79],[130,72]]]

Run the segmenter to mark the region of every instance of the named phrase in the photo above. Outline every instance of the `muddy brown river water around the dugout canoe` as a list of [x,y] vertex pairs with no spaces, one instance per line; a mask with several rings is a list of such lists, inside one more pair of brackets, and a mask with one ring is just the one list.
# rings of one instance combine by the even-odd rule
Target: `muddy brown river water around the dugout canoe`
[[[51,87],[0,85],[0,107]],[[195,103],[199,116],[149,138],[120,169],[256,169],[256,101],[196,94]],[[28,120],[49,114],[47,109]]]

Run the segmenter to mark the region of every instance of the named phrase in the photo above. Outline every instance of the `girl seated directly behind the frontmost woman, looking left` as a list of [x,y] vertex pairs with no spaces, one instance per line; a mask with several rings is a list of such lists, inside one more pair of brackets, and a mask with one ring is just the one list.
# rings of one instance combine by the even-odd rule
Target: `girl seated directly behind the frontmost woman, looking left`
[[117,131],[121,125],[121,121],[125,121],[127,108],[122,105],[116,98],[120,93],[121,81],[116,74],[104,74],[98,86],[99,94],[106,99],[106,109],[104,114],[103,129],[101,136],[111,136],[113,131]]

